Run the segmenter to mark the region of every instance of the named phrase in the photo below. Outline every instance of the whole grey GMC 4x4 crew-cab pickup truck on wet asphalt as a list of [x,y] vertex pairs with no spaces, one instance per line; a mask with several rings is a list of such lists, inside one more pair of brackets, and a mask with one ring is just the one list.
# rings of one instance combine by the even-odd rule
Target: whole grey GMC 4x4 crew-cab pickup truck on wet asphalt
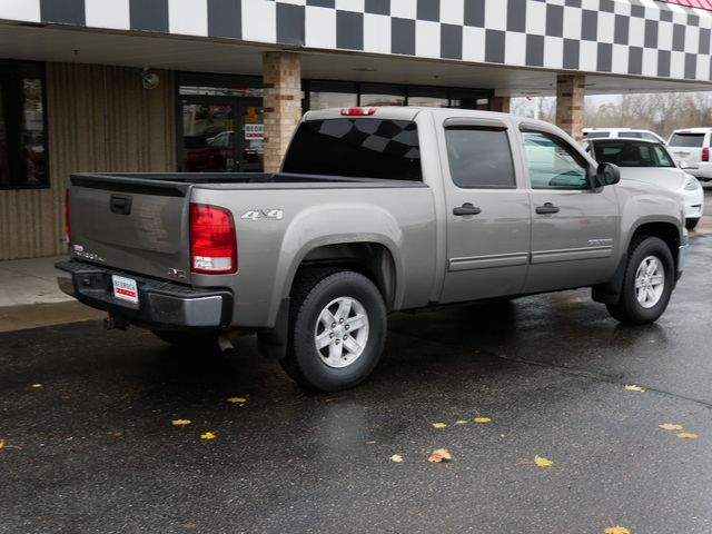
[[299,385],[352,387],[388,313],[591,287],[654,322],[681,199],[621,182],[562,130],[427,108],[306,113],[281,172],[76,174],[61,288],[176,345],[257,334]]

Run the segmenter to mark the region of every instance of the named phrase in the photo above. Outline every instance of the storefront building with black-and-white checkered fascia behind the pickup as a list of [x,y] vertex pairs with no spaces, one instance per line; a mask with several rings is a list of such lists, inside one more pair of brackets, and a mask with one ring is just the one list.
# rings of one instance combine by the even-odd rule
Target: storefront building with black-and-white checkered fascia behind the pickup
[[301,112],[708,90],[709,0],[0,0],[0,259],[75,171],[274,171]]

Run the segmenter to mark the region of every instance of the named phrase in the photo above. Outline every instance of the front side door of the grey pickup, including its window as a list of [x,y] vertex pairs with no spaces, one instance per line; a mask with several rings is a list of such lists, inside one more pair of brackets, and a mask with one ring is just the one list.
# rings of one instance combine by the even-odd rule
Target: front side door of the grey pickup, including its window
[[589,161],[557,135],[523,126],[522,141],[532,210],[532,265],[524,291],[607,280],[619,245],[614,189],[592,188]]

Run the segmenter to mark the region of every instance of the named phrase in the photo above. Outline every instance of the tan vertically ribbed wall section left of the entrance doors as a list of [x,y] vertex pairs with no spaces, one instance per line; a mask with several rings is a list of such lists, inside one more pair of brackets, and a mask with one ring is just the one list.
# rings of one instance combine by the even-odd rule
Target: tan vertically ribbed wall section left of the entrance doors
[[146,90],[139,69],[47,63],[51,188],[0,190],[0,260],[66,251],[71,172],[176,170],[176,77],[155,72]]

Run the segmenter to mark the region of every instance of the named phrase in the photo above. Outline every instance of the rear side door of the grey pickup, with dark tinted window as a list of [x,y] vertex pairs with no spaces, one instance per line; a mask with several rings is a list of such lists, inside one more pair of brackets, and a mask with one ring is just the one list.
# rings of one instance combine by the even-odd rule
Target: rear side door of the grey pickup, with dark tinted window
[[512,132],[493,119],[447,119],[444,127],[447,271],[442,301],[516,295],[528,261],[531,215],[528,195],[517,182]]

